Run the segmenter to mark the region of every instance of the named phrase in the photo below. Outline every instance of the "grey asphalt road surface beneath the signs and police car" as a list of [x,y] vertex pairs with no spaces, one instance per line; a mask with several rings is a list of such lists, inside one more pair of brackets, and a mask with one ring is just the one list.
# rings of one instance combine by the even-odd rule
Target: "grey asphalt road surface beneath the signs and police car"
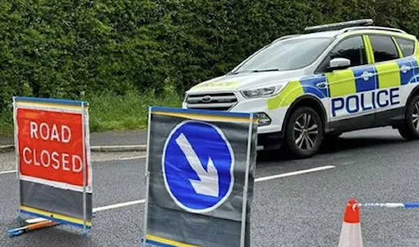
[[[251,246],[337,246],[346,200],[419,202],[419,141],[390,128],[344,134],[307,160],[259,157],[256,178],[315,167],[334,169],[257,182]],[[110,154],[112,155],[112,154]],[[275,157],[276,155],[276,157]],[[145,160],[94,163],[94,207],[144,198]],[[59,226],[10,238],[16,219],[15,174],[0,174],[0,246],[140,246],[143,204],[96,213],[87,237]],[[419,246],[419,209],[362,208],[365,247]]]

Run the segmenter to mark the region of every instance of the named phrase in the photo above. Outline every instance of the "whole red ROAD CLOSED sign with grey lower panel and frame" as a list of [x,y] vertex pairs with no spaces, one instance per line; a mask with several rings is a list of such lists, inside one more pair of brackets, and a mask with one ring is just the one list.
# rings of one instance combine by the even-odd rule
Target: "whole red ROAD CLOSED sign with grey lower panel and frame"
[[87,102],[14,98],[20,211],[91,226]]

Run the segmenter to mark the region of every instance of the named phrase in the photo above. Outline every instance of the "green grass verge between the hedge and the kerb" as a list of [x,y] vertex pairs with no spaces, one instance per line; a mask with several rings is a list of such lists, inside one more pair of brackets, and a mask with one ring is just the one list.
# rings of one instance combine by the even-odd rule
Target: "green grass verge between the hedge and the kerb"
[[[131,92],[124,96],[104,92],[89,95],[83,100],[89,102],[90,132],[145,129],[148,106],[182,106],[182,97],[174,92],[162,95]],[[3,109],[0,114],[0,136],[13,136],[12,110]]]

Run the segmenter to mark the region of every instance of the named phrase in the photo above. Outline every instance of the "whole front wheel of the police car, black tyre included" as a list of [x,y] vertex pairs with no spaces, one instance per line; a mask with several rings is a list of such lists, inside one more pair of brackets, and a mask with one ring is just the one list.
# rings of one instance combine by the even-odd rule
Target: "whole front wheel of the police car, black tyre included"
[[297,159],[314,156],[321,147],[323,122],[313,108],[302,106],[288,118],[285,129],[286,149]]

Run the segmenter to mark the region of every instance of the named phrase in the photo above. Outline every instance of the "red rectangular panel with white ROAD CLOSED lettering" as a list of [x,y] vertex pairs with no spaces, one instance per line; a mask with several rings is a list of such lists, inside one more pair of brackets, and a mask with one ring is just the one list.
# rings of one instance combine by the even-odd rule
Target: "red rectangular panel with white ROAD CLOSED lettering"
[[22,176],[83,186],[82,113],[17,108],[16,120]]

